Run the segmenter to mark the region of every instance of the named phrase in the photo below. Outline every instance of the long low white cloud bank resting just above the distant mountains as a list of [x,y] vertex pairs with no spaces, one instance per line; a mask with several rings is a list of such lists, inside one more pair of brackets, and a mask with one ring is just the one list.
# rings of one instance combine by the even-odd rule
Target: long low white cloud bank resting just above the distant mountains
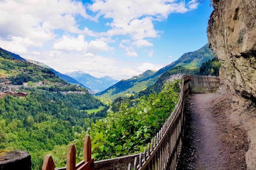
[[57,50],[41,53],[40,59],[29,54],[22,57],[45,63],[61,73],[82,70],[95,77],[109,75],[117,80],[131,78],[132,76],[142,74],[148,69],[156,70],[162,67],[151,63],[125,62],[112,57],[104,57],[92,53],[84,54],[83,52],[75,51],[72,52],[72,57],[67,51]]

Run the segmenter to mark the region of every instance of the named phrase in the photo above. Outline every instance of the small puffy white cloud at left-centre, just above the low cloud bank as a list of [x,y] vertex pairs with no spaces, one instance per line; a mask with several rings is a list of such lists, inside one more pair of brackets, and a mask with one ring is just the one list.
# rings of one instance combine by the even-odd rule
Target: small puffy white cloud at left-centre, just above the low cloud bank
[[78,35],[77,38],[70,35],[63,35],[62,38],[55,41],[53,49],[65,51],[87,51],[89,45],[84,38],[84,35]]

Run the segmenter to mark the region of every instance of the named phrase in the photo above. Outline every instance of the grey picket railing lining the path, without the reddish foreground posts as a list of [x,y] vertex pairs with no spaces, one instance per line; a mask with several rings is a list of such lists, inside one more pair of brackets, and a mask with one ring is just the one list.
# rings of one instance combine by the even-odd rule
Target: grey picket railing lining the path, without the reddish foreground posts
[[184,75],[180,84],[180,99],[169,118],[163,124],[151,143],[144,149],[144,157],[140,153],[129,163],[128,170],[175,170],[182,146],[184,130],[184,97],[192,93],[216,91],[219,78],[212,76]]

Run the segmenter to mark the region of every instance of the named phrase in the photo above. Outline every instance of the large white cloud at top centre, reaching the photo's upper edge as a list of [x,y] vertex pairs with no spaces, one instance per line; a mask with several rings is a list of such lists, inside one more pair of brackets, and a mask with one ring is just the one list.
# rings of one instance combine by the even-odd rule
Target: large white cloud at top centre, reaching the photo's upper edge
[[130,35],[133,39],[155,38],[153,20],[166,19],[170,13],[184,13],[196,6],[191,2],[186,7],[184,0],[96,0],[89,6],[97,16],[113,19],[108,24],[112,29],[105,35]]

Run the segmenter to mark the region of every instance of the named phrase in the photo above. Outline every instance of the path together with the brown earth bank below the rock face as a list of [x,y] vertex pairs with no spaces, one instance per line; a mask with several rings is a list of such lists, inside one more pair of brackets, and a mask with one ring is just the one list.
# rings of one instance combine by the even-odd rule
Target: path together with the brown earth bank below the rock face
[[256,169],[256,108],[251,100],[222,82],[217,93],[192,94],[186,101],[187,128],[177,169]]

